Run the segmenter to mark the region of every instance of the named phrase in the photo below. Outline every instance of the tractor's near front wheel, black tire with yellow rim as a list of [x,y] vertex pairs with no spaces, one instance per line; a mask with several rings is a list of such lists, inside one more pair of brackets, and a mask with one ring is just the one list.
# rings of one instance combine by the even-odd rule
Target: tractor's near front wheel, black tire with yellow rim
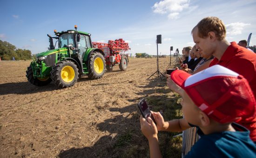
[[78,68],[74,62],[63,60],[53,67],[51,79],[59,88],[73,86],[78,79]]

